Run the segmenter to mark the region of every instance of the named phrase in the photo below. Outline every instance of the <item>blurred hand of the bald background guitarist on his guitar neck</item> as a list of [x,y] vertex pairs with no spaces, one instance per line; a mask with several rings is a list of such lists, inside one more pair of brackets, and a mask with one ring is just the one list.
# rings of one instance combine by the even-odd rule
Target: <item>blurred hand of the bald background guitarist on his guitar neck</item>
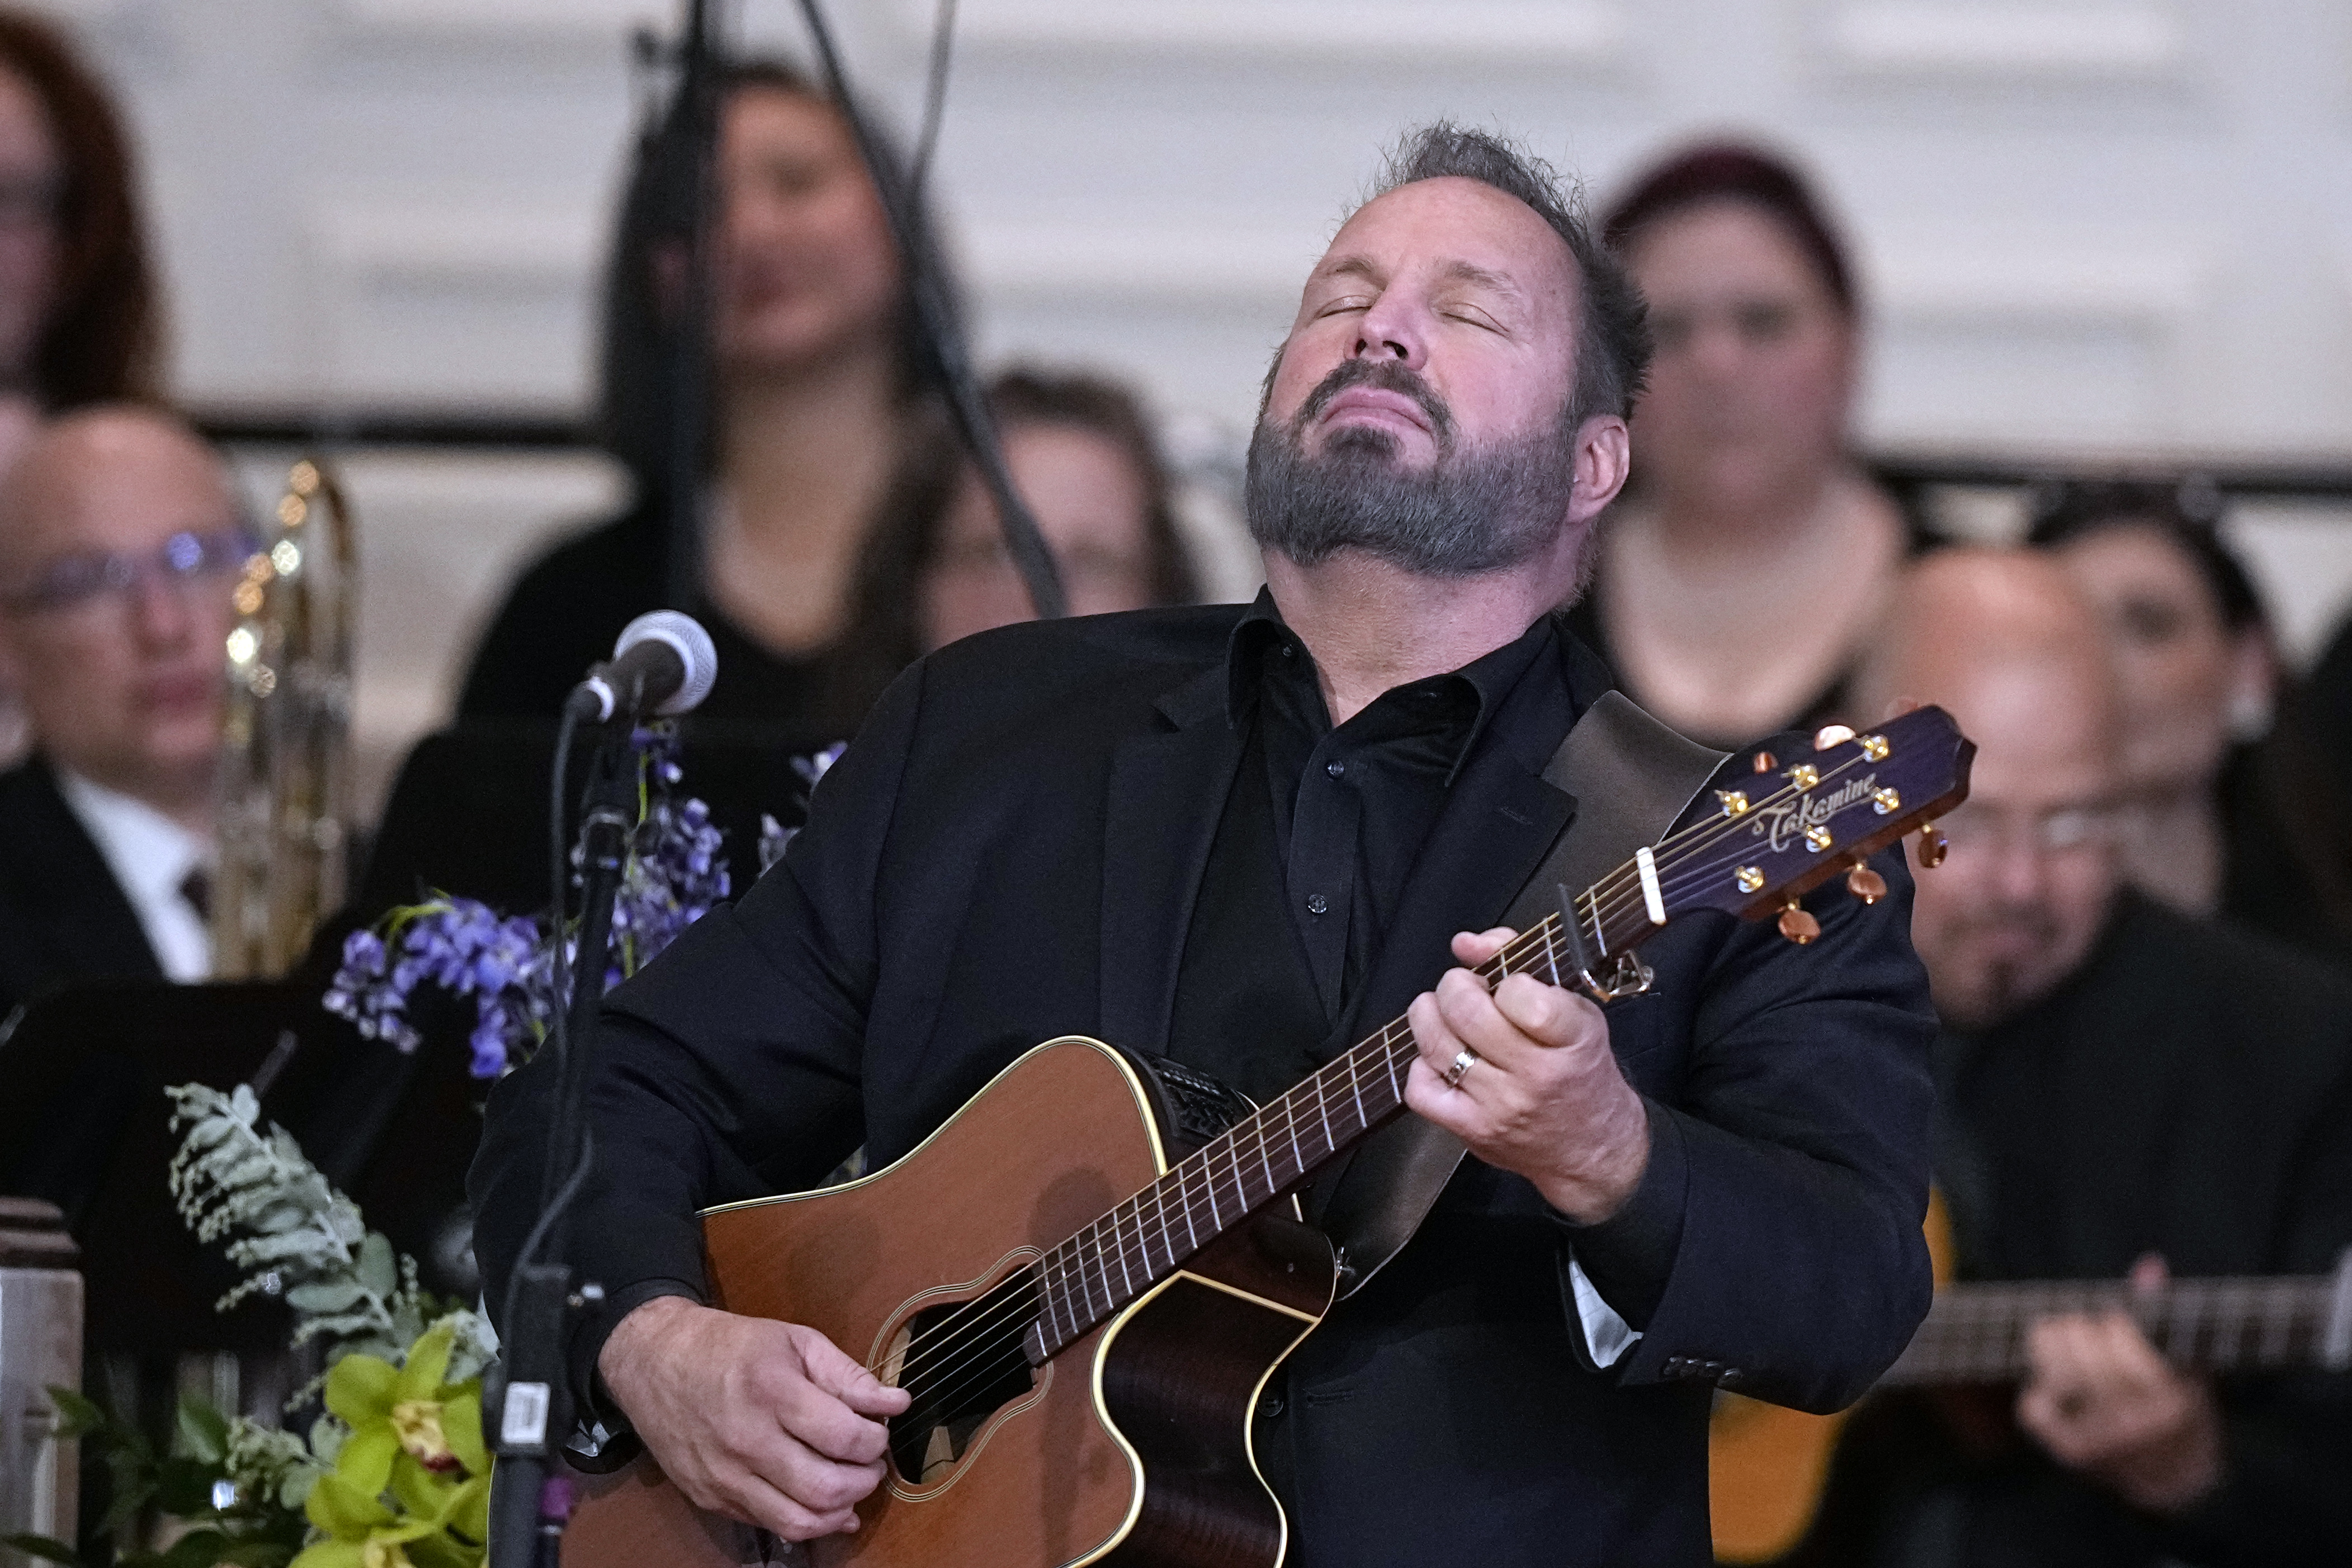
[[[2131,1269],[2164,1288],[2164,1260]],[[2206,1380],[2176,1371],[2124,1312],[2042,1319],[2018,1425],[2053,1460],[2107,1483],[2131,1507],[2183,1514],[2220,1483],[2220,1413]]]

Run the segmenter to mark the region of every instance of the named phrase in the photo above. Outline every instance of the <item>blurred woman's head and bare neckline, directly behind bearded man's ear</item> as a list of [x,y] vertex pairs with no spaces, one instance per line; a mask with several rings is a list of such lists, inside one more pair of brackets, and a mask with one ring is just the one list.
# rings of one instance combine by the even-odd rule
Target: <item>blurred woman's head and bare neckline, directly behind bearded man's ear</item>
[[1740,745],[1825,717],[1912,548],[1846,444],[1846,252],[1797,172],[1743,146],[1670,158],[1604,228],[1656,355],[1632,487],[1573,623],[1691,736]]

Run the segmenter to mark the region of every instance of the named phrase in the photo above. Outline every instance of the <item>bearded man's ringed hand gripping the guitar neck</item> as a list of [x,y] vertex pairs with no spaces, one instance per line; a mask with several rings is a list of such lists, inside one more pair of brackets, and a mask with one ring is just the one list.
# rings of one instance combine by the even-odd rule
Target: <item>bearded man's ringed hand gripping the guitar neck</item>
[[1649,1112],[1609,1051],[1590,999],[1531,973],[1494,992],[1470,973],[1517,933],[1463,931],[1435,992],[1406,1018],[1421,1048],[1404,1103],[1581,1225],[1613,1215],[1649,1168]]

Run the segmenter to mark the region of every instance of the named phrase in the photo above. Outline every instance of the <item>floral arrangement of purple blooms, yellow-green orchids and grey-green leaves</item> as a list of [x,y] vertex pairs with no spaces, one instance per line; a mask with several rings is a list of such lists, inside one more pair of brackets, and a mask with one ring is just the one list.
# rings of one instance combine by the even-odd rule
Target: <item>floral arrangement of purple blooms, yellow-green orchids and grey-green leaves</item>
[[[614,961],[604,987],[635,973],[731,891],[720,830],[699,799],[673,802],[677,741],[642,729],[637,830],[614,907]],[[814,788],[842,755],[835,745],[793,769]],[[760,818],[760,870],[783,856],[795,830]],[[555,1018],[555,919],[501,917],[470,898],[435,896],[393,910],[343,943],[327,1011],[360,1034],[414,1051],[409,1020],[419,985],[475,1004],[475,1077],[529,1060]],[[99,1535],[120,1535],[146,1509],[179,1526],[169,1547],[125,1549],[120,1568],[480,1568],[489,1535],[492,1455],[482,1441],[480,1373],[496,1356],[489,1324],[419,1284],[416,1262],[367,1229],[360,1208],[303,1157],[285,1128],[256,1126],[252,1088],[221,1093],[181,1084],[172,1126],[181,1133],[169,1182],[200,1241],[219,1241],[247,1269],[219,1307],[278,1295],[294,1309],[292,1342],[318,1342],[327,1371],[287,1401],[325,1394],[308,1434],[226,1418],[181,1399],[169,1453],[71,1389],[49,1389],[59,1436],[113,1474],[113,1507]],[[40,1561],[80,1566],[59,1540],[5,1542]]]

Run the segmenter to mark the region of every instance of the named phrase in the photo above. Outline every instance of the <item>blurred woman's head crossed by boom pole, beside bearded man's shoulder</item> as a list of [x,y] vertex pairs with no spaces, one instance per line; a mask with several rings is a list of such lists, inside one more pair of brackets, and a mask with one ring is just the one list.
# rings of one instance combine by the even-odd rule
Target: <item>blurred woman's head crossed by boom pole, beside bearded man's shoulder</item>
[[[988,407],[1073,616],[1200,599],[1160,442],[1127,388],[1016,369],[988,388]],[[858,639],[844,658],[870,701],[931,649],[1030,616],[974,465],[927,465],[884,505],[866,548],[851,614]]]

